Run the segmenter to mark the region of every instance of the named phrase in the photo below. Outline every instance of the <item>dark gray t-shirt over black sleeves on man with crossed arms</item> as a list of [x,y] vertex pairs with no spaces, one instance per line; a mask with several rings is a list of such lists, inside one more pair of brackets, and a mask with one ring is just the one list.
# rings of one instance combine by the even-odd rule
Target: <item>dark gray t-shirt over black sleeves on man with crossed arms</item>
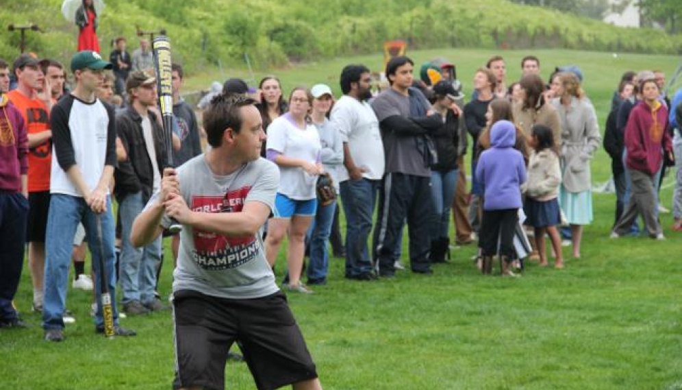
[[[418,95],[423,104],[431,108],[422,93]],[[401,95],[393,88],[383,91],[372,101],[372,108],[379,123],[393,115],[409,118],[409,97]],[[416,136],[398,136],[381,126],[381,139],[386,155],[386,173],[405,173],[407,175],[431,177],[431,169],[424,164],[424,156],[417,147]]]

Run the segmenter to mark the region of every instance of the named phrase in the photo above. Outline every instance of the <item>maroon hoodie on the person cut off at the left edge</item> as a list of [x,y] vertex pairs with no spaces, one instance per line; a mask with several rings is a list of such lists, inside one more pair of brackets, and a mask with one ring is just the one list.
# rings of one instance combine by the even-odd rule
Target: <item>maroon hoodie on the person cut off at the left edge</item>
[[28,173],[28,136],[21,112],[0,95],[0,191],[21,192]]

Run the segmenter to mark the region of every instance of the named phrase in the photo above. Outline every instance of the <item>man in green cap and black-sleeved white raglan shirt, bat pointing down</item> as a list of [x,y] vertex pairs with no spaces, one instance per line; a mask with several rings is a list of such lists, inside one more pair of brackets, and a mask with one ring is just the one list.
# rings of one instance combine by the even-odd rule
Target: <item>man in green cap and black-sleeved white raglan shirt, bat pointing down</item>
[[116,124],[114,108],[95,96],[103,84],[104,69],[111,67],[94,51],[75,53],[71,58],[75,88],[53,107],[50,115],[54,152],[42,311],[42,327],[48,341],[64,340],[62,313],[68,266],[73,236],[80,222],[85,226],[92,252],[97,292],[95,330],[101,333],[107,327],[118,336],[135,334],[118,326],[116,300],[101,299],[107,298],[107,293],[116,297],[114,219],[109,191],[116,165]]

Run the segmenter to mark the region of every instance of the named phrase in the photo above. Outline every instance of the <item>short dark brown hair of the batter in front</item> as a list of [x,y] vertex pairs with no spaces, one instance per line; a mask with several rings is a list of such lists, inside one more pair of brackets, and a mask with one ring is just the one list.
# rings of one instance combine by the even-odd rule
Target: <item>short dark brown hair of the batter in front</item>
[[228,127],[239,133],[242,130],[240,108],[253,106],[255,103],[255,100],[244,95],[233,93],[216,95],[203,113],[203,128],[206,130],[209,145],[220,147],[223,144],[223,134]]

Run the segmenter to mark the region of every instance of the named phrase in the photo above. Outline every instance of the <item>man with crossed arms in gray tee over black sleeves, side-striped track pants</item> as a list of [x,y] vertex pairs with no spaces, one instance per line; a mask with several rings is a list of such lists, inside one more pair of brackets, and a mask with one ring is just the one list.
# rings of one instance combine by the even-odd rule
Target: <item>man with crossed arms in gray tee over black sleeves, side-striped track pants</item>
[[[394,276],[398,245],[407,219],[409,260],[415,273],[432,273],[429,261],[433,214],[431,169],[435,150],[427,135],[442,126],[440,114],[416,88],[411,88],[414,63],[407,57],[386,64],[391,88],[372,101],[379,119],[386,173],[379,188],[379,215],[374,235],[374,258],[379,276]],[[430,115],[430,116],[429,116]]]

